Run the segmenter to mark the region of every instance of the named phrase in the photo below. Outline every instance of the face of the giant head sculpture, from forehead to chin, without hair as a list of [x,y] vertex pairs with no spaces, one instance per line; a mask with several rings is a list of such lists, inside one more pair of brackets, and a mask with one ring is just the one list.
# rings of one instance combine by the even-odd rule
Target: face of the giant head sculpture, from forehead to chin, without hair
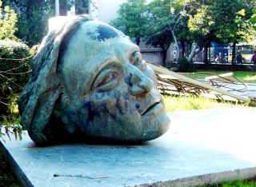
[[58,104],[72,133],[108,141],[148,141],[168,129],[153,70],[138,46],[113,27],[82,22],[65,39],[58,62]]

